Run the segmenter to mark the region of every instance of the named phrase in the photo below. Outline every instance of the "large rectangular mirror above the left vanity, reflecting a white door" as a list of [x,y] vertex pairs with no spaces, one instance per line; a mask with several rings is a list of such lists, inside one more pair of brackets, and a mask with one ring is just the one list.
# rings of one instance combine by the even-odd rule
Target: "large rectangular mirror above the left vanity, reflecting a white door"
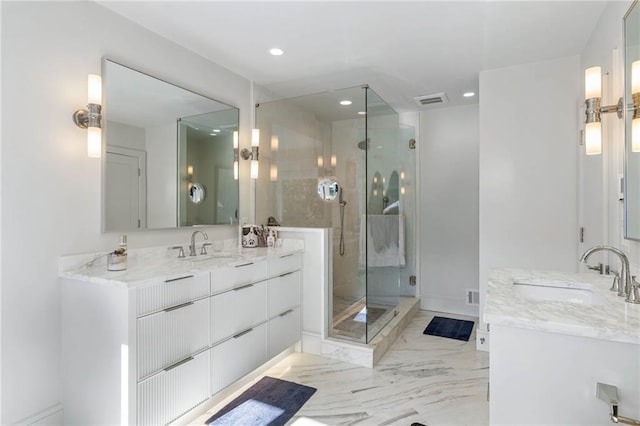
[[238,109],[109,59],[103,76],[103,232],[237,223]]

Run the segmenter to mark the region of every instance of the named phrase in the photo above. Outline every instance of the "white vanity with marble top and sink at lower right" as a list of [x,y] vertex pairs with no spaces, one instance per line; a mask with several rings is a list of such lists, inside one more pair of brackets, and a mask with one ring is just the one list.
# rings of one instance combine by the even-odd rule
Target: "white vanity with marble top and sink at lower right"
[[595,274],[492,271],[492,425],[609,424],[597,383],[617,387],[620,415],[640,417],[640,305],[611,284]]

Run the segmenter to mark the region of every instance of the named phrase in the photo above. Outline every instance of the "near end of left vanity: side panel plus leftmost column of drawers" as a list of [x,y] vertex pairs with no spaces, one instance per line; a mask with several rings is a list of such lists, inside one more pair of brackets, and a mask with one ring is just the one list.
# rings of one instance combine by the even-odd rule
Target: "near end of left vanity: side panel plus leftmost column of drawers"
[[167,424],[209,398],[209,277],[62,281],[65,424]]

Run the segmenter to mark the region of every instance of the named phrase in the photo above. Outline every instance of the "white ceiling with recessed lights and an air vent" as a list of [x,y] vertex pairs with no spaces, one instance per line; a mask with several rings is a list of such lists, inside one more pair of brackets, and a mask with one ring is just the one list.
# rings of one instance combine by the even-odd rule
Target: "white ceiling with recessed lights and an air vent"
[[[396,111],[445,92],[477,103],[478,73],[580,54],[606,1],[101,1],[275,98],[369,84]],[[279,47],[282,56],[269,49]],[[579,78],[579,76],[576,76]],[[256,99],[263,102],[267,99]]]

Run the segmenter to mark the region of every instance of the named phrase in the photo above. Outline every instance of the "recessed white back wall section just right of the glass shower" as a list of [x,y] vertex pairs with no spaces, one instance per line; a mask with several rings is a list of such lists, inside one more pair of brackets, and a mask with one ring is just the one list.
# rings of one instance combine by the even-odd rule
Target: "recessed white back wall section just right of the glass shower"
[[478,316],[478,105],[420,113],[420,307]]

